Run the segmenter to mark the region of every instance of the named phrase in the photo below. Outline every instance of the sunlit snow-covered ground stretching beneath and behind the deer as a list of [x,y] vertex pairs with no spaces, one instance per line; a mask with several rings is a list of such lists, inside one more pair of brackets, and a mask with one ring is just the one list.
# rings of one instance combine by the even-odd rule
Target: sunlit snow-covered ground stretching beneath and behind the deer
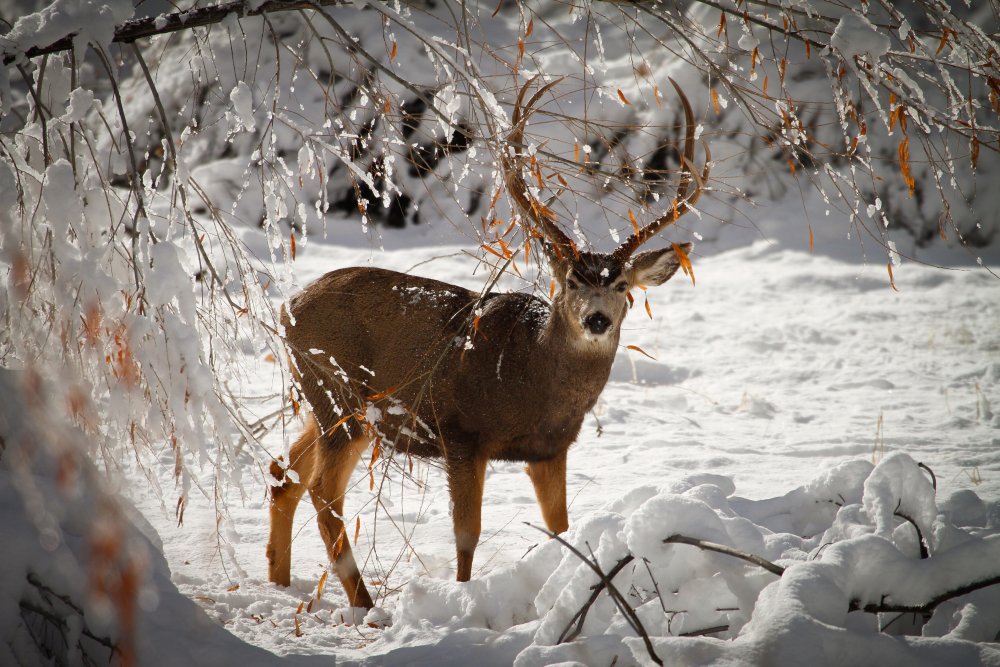
[[[257,242],[257,232],[246,234],[251,244]],[[399,247],[407,238],[390,235],[383,242]],[[310,243],[295,261],[301,283],[333,268],[368,263],[469,287],[485,280],[464,247],[418,244],[383,251],[354,245]],[[955,638],[992,641],[992,635],[959,632],[950,642],[893,639],[886,648],[889,639],[876,632],[874,615],[846,614],[850,597],[869,603],[882,593],[905,593],[916,604],[946,590],[948,582],[967,583],[983,574],[964,561],[956,572],[938,550],[1000,527],[1000,281],[979,267],[942,270],[908,262],[894,273],[894,291],[881,263],[843,263],[765,242],[717,254],[696,248],[693,260],[696,285],[679,274],[649,291],[652,319],[637,295],[611,381],[570,451],[569,539],[584,551],[588,541],[606,569],[624,553],[629,534],[648,541],[658,532],[661,538],[681,532],[784,565],[812,560],[853,571],[843,561],[862,562],[851,551],[855,542],[840,542],[849,545],[849,557],[823,545],[891,535],[907,559],[880,540],[884,553],[863,550],[867,560],[858,571],[867,572],[864,582],[813,572],[785,589],[768,588],[769,606],[756,612],[757,593],[774,575],[728,556],[701,555],[691,546],[661,547],[659,556],[649,556],[659,593],[670,598],[667,610],[686,613],[661,612],[660,620],[647,621],[647,630],[663,637],[730,626],[712,635],[725,641],[655,640],[661,657],[685,663],[773,656],[790,664],[802,642],[817,641],[833,642],[810,649],[820,664],[843,664],[854,651],[874,651],[888,661],[882,664],[1000,661],[1000,649]],[[274,363],[249,353],[244,370],[256,378],[247,410],[270,413],[276,401],[253,397],[281,391]],[[294,422],[284,432],[273,428],[265,440],[270,451],[284,451],[297,429]],[[880,472],[864,486],[872,463],[880,462]],[[933,470],[936,496],[916,462]],[[532,527],[542,522],[521,465],[491,465],[474,581],[457,584],[441,470],[418,462],[410,479],[382,470],[388,477],[379,499],[369,491],[365,464],[367,457],[353,477],[347,523],[360,526],[355,553],[365,579],[378,582],[372,589],[391,618],[389,629],[345,623],[352,617],[333,577],[314,600],[326,556],[308,502],[297,516],[291,587],[267,582],[267,489],[249,456],[227,464],[243,468],[241,488],[213,487],[213,470],[206,467],[204,493],[192,494],[180,527],[174,508],[148,493],[141,475],[128,494],[162,538],[179,588],[235,635],[279,655],[335,655],[369,664],[511,664],[522,651],[519,664],[610,664],[616,655],[617,664],[648,660],[641,643],[620,639],[635,635],[620,615],[612,618],[610,601],[595,606],[581,639],[560,649],[547,646],[562,629],[555,626],[568,622],[596,579],[587,580],[586,572],[574,569],[579,560]],[[162,483],[170,488],[170,466],[163,469]],[[658,493],[666,495],[654,498]],[[916,520],[925,528],[929,561],[917,559],[908,525],[895,533],[884,525],[897,508],[888,508],[888,518],[879,512],[895,502],[893,493],[901,508],[915,508],[910,511],[922,517]],[[838,505],[846,506],[839,515]],[[632,533],[630,521],[639,522]],[[1000,562],[995,539],[980,546],[973,563]],[[926,563],[938,569],[911,572]],[[808,574],[794,567],[786,580],[792,572]],[[655,598],[648,582],[637,583],[644,570],[630,572],[633,590]],[[842,585],[837,595],[830,581]],[[623,586],[628,590],[629,583]],[[575,590],[576,598],[557,599],[564,589]],[[826,611],[796,607],[789,590]],[[981,627],[995,633],[1000,600],[990,590],[975,608]],[[716,607],[732,610],[716,613]],[[952,614],[960,609],[942,607],[925,634],[952,630],[961,619]],[[744,625],[752,612],[754,620]],[[893,616],[882,615],[881,623]],[[668,618],[669,627],[663,621]]]

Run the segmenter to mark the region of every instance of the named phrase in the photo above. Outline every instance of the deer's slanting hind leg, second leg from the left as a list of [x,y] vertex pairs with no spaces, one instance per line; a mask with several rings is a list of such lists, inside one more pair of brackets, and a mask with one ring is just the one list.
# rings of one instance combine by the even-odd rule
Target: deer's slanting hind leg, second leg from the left
[[361,454],[368,447],[363,437],[348,440],[337,437],[324,443],[317,451],[317,475],[309,487],[309,495],[316,507],[316,521],[326,544],[326,552],[333,564],[333,571],[340,579],[352,607],[374,607],[361,571],[354,560],[354,552],[344,527],[344,494],[351,480],[351,472]]

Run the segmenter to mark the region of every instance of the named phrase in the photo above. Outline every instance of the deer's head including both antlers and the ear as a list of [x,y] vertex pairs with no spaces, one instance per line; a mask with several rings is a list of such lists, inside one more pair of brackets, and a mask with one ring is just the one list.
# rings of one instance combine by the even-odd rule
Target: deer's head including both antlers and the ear
[[[684,108],[686,123],[684,153],[681,155],[681,176],[670,209],[659,218],[636,226],[635,233],[610,253],[582,252],[556,225],[555,214],[539,202],[524,180],[526,162],[523,156],[524,127],[534,105],[559,81],[540,88],[527,103],[525,95],[535,81],[532,78],[520,90],[514,105],[512,129],[507,137],[511,149],[501,153],[501,168],[507,194],[520,214],[525,233],[542,240],[558,292],[552,303],[554,317],[560,318],[578,346],[595,351],[614,348],[618,343],[621,323],[628,311],[635,287],[661,285],[677,272],[692,245],[672,244],[660,250],[636,254],[639,247],[668,225],[691,210],[704,190],[709,176],[711,154],[704,145],[705,165],[699,173],[694,168],[695,123],[691,104],[677,82],[670,83],[677,91]],[[537,167],[535,167],[537,174]],[[692,183],[694,189],[691,190]]]

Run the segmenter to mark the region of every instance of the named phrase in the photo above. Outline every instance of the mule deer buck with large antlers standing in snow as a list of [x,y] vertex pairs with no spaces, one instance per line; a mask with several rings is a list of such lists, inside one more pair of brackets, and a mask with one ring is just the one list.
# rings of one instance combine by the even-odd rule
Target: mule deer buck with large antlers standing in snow
[[[523,461],[549,530],[568,527],[566,453],[611,371],[629,290],[660,285],[690,244],[636,250],[687,212],[708,178],[694,168],[691,105],[673,81],[686,119],[681,177],[671,210],[614,252],[582,252],[524,181],[520,152],[503,151],[507,194],[526,234],[541,237],[558,291],[551,304],[523,293],[475,292],[377,268],[326,274],[283,311],[286,343],[312,408],[288,468],[271,465],[268,576],[287,586],[292,517],[305,491],[350,604],[372,607],[345,534],[344,494],[371,441],[444,461],[453,503],[458,581],[468,581],[479,541],[490,460]],[[532,107],[520,91],[508,143],[522,146]],[[693,190],[689,194],[691,185]],[[472,346],[466,341],[472,341]],[[380,407],[379,407],[380,406]]]

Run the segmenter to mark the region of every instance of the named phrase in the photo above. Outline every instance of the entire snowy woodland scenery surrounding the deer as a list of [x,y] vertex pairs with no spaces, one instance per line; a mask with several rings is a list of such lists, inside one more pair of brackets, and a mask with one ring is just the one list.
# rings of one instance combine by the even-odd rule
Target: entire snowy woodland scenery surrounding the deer
[[[1000,664],[995,0],[0,0],[0,51],[0,664]],[[441,470],[366,455],[378,607],[311,510],[267,583],[281,304],[353,264],[549,298],[497,167],[535,76],[581,247],[672,205],[671,78],[712,165],[565,542],[496,464],[457,584]]]

